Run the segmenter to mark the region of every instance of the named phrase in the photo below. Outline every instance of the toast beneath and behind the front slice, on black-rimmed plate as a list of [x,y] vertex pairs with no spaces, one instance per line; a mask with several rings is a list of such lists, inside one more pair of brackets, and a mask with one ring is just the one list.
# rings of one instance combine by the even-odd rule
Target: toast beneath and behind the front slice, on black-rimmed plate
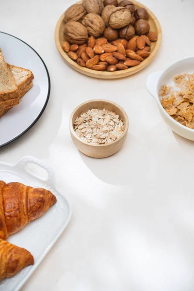
[[4,102],[0,102],[0,117],[8,112],[9,109],[19,104],[20,99],[32,88],[34,76],[30,70],[8,65],[19,90],[19,97]]

